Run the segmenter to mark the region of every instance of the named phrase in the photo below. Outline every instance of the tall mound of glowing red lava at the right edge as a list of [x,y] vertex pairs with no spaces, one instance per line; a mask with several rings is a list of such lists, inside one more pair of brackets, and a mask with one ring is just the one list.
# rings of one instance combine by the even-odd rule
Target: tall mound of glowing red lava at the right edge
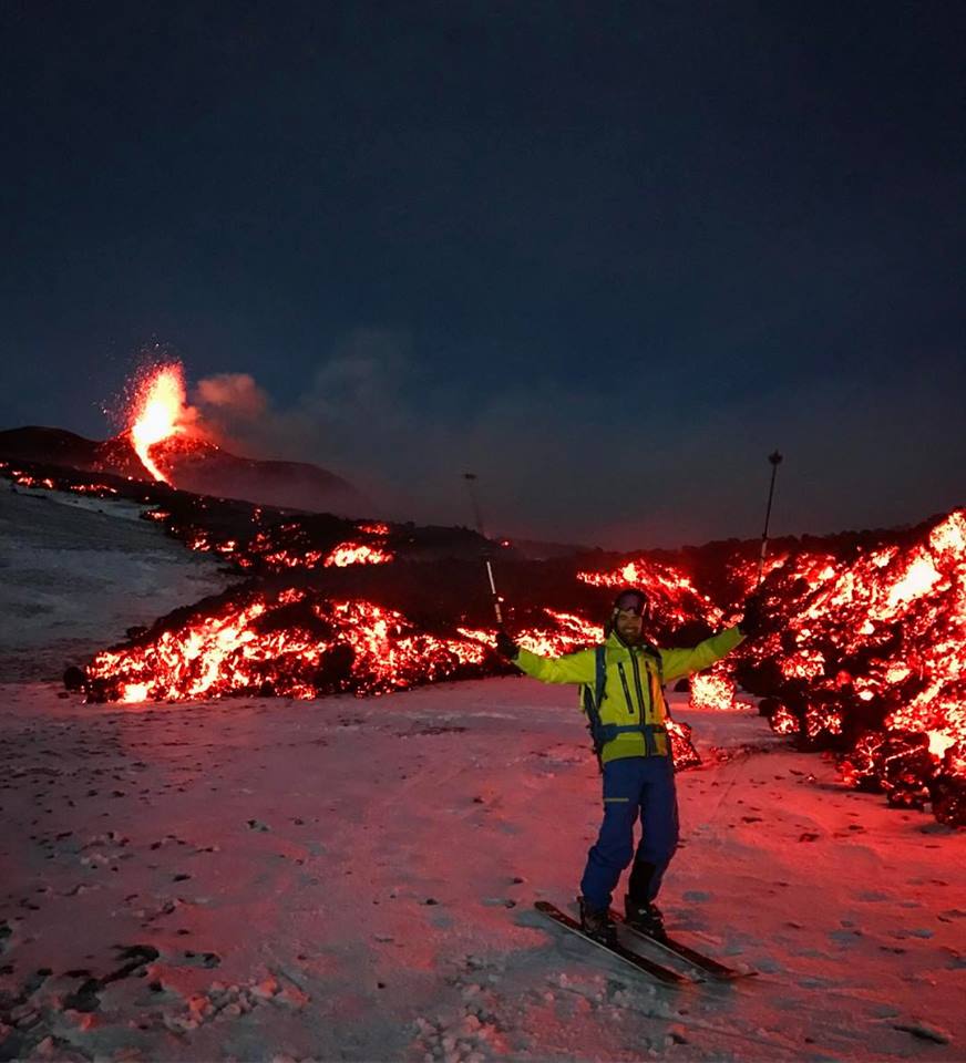
[[770,631],[740,668],[774,699],[772,726],[844,752],[852,785],[966,825],[966,510],[802,550],[765,594]]

